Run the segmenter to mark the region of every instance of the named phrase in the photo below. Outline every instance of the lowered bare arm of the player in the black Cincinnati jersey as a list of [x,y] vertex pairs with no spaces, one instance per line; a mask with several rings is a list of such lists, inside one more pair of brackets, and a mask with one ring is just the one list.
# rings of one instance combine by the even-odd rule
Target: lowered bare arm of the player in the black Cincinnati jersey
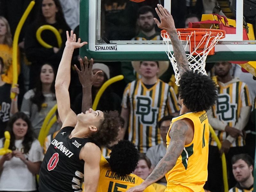
[[96,192],[100,177],[100,148],[94,143],[86,143],[79,157],[84,160],[85,192]]

